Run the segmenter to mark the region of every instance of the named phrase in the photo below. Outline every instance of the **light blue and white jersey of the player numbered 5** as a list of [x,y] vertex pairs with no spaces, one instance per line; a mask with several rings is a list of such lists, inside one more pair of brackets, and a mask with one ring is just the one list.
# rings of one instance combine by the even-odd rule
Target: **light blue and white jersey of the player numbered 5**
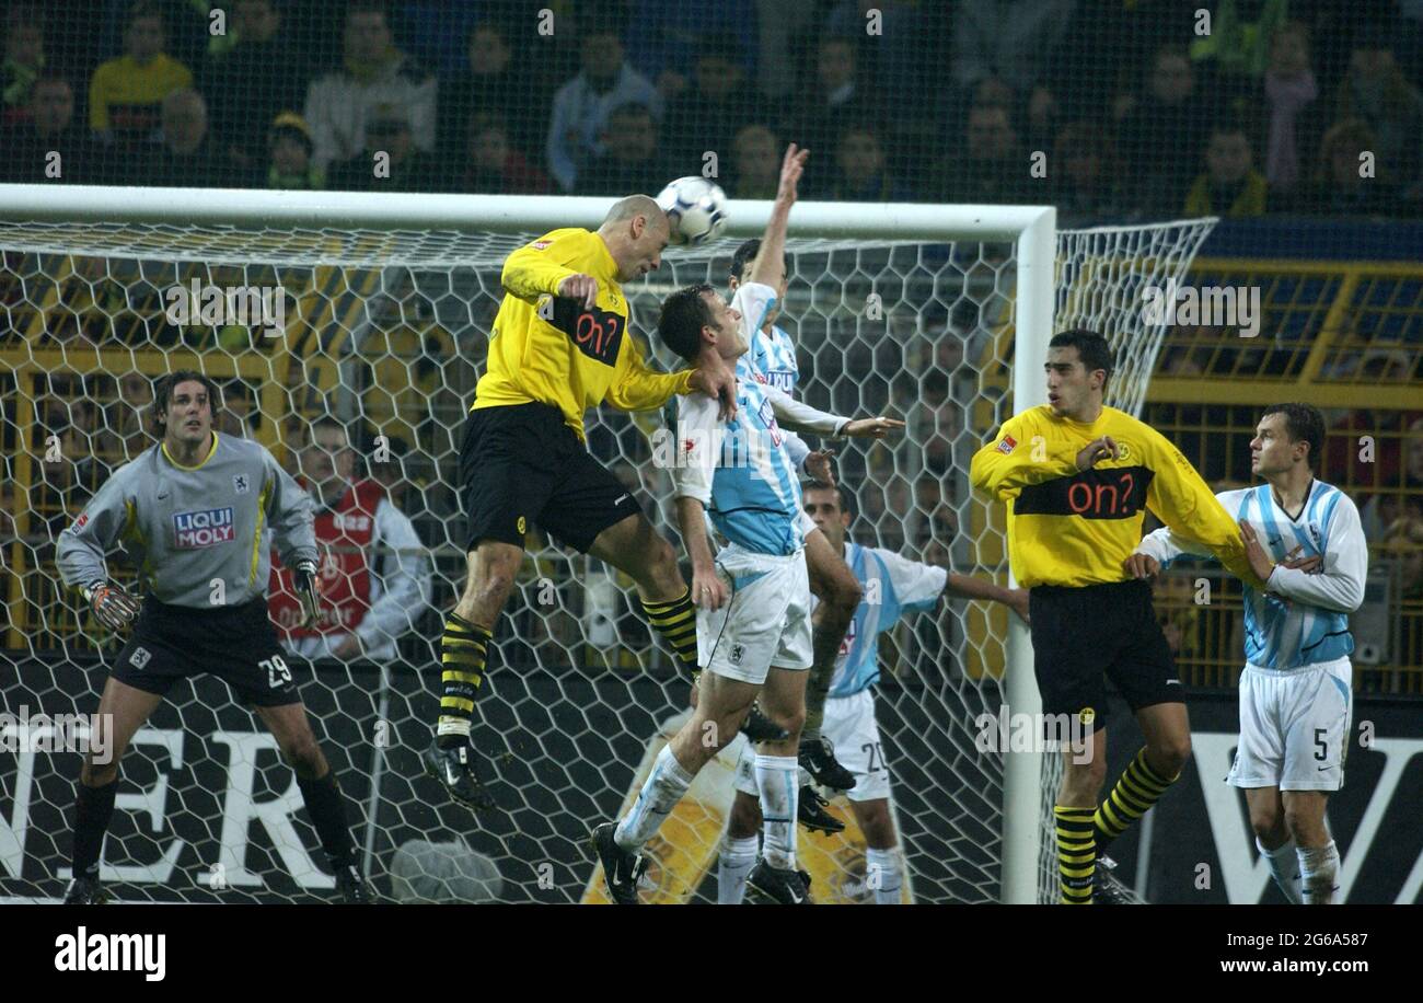
[[[1251,525],[1276,563],[1296,548],[1302,558],[1323,556],[1319,573],[1275,568],[1266,592],[1245,586],[1245,660],[1261,669],[1301,669],[1353,652],[1349,613],[1363,603],[1369,573],[1369,545],[1353,501],[1323,481],[1311,482],[1294,516],[1268,484],[1215,497],[1237,521]],[[1148,534],[1137,552],[1150,553],[1163,568],[1183,553],[1210,556],[1167,528]]]

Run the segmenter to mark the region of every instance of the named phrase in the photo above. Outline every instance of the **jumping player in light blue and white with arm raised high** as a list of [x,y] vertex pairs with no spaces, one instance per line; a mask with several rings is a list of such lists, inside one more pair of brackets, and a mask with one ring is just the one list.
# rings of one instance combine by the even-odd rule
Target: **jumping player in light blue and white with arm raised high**
[[[689,286],[666,299],[657,331],[689,361],[744,354],[758,320],[776,302],[767,285],[780,267],[785,225],[805,152],[794,144],[781,165],[780,191],[766,225],[761,256],[731,306],[710,286]],[[636,905],[640,849],[687,792],[702,770],[737,734],[751,703],[787,731],[760,744],[756,774],[766,815],[766,856],[751,881],[778,902],[810,902],[795,868],[800,767],[795,750],[805,717],[805,670],[811,664],[810,582],[805,572],[795,478],[773,404],[756,381],[737,384],[734,420],[720,423],[716,403],[684,397],[677,423],[673,482],[677,524],[692,558],[697,606],[696,710],[653,764],[623,818],[598,825],[593,847],[609,895]],[[706,532],[710,512],[729,541],[716,558]]]

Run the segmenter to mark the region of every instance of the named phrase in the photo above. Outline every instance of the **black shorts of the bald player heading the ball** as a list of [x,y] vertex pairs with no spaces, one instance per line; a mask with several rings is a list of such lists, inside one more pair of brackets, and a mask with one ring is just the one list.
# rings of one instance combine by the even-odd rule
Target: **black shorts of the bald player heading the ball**
[[603,529],[642,512],[549,404],[470,411],[460,495],[470,516],[467,551],[484,539],[524,546],[524,534],[536,525],[586,553]]

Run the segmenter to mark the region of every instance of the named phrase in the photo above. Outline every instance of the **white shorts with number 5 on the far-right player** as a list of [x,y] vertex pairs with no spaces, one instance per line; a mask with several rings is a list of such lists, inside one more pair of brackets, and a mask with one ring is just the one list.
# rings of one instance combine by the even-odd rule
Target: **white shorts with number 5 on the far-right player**
[[1241,673],[1241,737],[1225,777],[1234,787],[1338,791],[1353,713],[1349,659]]

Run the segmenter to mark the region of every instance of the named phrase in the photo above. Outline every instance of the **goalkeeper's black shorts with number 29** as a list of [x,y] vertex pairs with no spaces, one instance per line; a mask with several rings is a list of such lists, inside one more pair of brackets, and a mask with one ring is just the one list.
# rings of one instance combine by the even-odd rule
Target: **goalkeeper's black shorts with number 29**
[[242,606],[191,609],[148,596],[110,674],[164,696],[179,679],[205,672],[231,686],[245,704],[286,707],[302,701],[260,598]]

